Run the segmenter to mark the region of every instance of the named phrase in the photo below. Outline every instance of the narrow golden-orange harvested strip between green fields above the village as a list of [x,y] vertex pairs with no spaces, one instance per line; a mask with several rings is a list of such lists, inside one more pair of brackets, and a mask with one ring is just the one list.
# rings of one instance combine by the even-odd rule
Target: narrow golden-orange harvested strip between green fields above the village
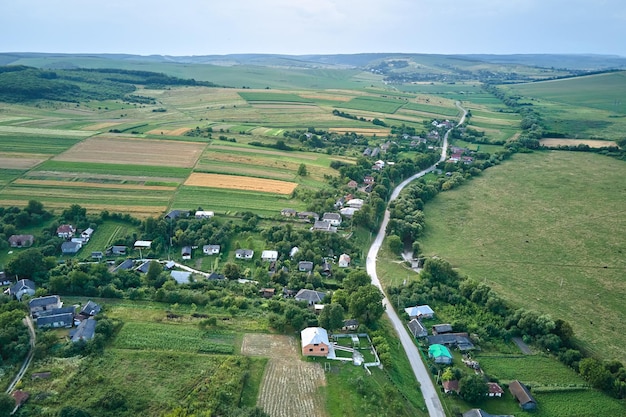
[[199,172],[192,173],[185,181],[185,185],[274,194],[291,194],[298,186],[295,182],[266,180],[239,175],[203,174]]

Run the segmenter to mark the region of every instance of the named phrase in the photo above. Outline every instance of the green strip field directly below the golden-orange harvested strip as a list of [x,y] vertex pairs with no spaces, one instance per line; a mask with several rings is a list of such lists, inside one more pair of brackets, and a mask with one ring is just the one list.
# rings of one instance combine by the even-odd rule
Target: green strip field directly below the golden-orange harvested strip
[[203,207],[222,214],[252,211],[269,217],[279,216],[285,207],[306,208],[303,202],[288,195],[192,186],[181,186],[171,207]]

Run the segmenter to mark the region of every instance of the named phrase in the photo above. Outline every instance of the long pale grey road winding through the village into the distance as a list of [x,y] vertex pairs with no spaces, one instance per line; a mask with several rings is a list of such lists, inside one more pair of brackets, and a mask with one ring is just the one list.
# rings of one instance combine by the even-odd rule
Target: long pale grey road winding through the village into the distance
[[[456,106],[460,111],[463,112],[461,121],[458,123],[458,125],[461,125],[465,121],[467,111],[461,107],[461,104],[459,102],[456,103]],[[441,158],[439,159],[439,162],[446,159],[446,154],[448,151],[448,134],[450,133],[450,130],[448,130],[443,137],[443,146],[441,149]],[[398,198],[402,189],[404,189],[404,187],[411,183],[411,181],[414,181],[417,178],[428,174],[434,169],[435,165],[423,171],[420,171],[417,174],[402,181],[400,185],[398,185],[391,193],[389,202]],[[398,316],[398,313],[396,313],[396,311],[393,309],[393,306],[389,303],[387,295],[385,294],[385,291],[383,290],[383,287],[378,280],[378,275],[376,274],[376,257],[378,256],[378,251],[380,250],[383,240],[385,239],[387,223],[389,223],[389,210],[385,210],[385,216],[383,217],[383,222],[380,225],[380,230],[378,231],[376,239],[374,239],[374,242],[372,243],[372,246],[367,253],[367,273],[372,278],[372,285],[377,286],[383,293],[383,305],[385,306],[385,311],[387,312],[387,316],[389,316],[393,327],[396,329],[396,333],[398,333],[398,337],[400,338],[402,347],[404,348],[404,351],[409,358],[409,363],[411,364],[411,368],[413,369],[415,378],[420,384],[422,394],[424,395],[424,401],[426,402],[426,408],[428,409],[428,415],[430,417],[446,417],[446,413],[443,411],[443,405],[441,404],[441,400],[437,395],[437,389],[435,388],[435,384],[433,384],[433,381],[430,378],[430,374],[426,369],[424,362],[422,361],[420,352],[413,342],[413,336],[407,331],[404,323]]]

